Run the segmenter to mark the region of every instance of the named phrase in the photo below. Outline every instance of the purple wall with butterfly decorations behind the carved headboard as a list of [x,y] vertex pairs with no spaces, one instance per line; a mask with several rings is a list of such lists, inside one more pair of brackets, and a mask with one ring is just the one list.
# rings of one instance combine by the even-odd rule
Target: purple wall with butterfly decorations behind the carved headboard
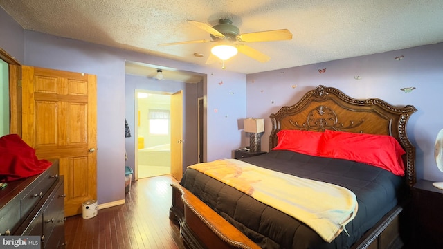
[[[403,59],[397,60],[395,57]],[[318,70],[326,68],[325,73]],[[417,149],[417,178],[443,181],[434,159],[435,137],[443,128],[438,104],[443,91],[443,43],[388,53],[341,59],[247,76],[247,116],[265,118],[262,149],[269,150],[269,115],[295,104],[319,84],[341,89],[353,98],[380,98],[398,106],[412,104],[407,132]],[[355,80],[360,76],[361,80]],[[293,86],[296,86],[293,88]],[[410,93],[401,88],[415,86]],[[275,100],[274,104],[271,100]],[[243,136],[246,144],[247,138]]]

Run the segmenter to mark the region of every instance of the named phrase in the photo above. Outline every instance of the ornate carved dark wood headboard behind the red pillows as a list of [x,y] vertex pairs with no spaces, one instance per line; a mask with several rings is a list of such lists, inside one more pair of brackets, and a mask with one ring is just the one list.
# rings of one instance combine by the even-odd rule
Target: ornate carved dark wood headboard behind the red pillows
[[305,131],[347,131],[389,135],[406,151],[404,155],[407,184],[415,184],[415,147],[406,134],[406,122],[417,111],[412,105],[394,107],[383,100],[356,100],[338,89],[317,86],[290,107],[272,113],[269,148],[277,145],[277,133],[283,129]]

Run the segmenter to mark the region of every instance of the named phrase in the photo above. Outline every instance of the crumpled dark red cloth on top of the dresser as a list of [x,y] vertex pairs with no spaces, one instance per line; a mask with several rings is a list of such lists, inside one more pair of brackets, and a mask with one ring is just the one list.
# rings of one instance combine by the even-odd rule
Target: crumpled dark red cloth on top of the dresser
[[39,160],[35,149],[21,140],[17,134],[0,138],[0,181],[15,181],[44,172],[52,163]]

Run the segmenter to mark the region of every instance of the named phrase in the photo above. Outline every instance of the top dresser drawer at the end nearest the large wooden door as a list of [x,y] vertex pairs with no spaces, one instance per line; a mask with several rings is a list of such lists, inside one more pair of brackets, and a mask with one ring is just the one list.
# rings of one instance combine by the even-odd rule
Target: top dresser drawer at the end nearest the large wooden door
[[35,208],[37,203],[43,199],[49,188],[57,181],[58,176],[58,164],[46,169],[45,172],[34,181],[28,189],[29,192],[21,199],[21,220],[23,221]]

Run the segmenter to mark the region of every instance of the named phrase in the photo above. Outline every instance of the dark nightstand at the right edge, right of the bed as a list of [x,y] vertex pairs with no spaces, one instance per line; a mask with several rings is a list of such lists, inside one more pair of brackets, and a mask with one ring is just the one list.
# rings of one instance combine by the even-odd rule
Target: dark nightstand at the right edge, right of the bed
[[443,248],[443,190],[432,183],[419,180],[412,188],[415,248]]

